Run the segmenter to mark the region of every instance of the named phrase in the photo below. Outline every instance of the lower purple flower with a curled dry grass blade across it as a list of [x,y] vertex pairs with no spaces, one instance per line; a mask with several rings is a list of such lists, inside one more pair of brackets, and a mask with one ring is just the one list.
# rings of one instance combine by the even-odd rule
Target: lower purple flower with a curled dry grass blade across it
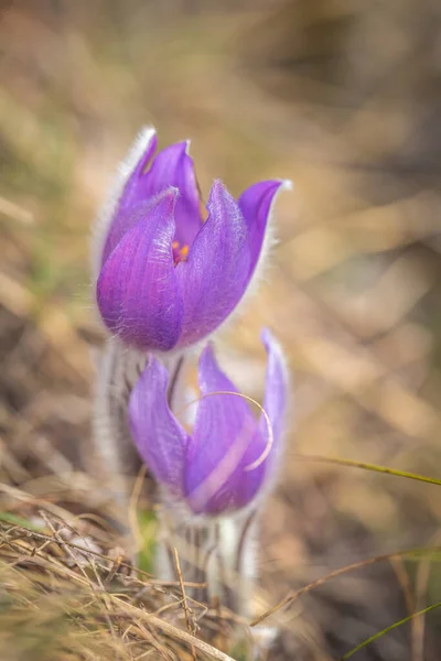
[[[246,507],[266,491],[277,470],[288,401],[283,356],[263,330],[267,376],[258,420],[220,371],[207,346],[200,359],[202,398],[191,434],[170,411],[168,371],[150,357],[129,402],[132,437],[157,480],[194,513],[219,514]],[[228,392],[229,394],[225,394]],[[269,424],[268,424],[269,422]]]

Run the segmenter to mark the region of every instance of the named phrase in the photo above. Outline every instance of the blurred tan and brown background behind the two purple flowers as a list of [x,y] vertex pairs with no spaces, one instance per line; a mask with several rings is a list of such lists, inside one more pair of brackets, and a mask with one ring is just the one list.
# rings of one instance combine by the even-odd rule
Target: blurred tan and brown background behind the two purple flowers
[[[261,397],[262,325],[294,375],[256,613],[346,564],[441,544],[440,487],[299,456],[441,477],[440,3],[0,8],[1,481],[75,500],[100,342],[90,226],[117,162],[153,123],[162,147],[192,139],[205,198],[214,177],[235,195],[267,177],[294,183],[277,204],[267,278],[220,339],[248,394]],[[384,560],[280,613],[269,658],[337,659],[440,600],[439,556]],[[435,661],[440,649],[433,610],[354,658]]]

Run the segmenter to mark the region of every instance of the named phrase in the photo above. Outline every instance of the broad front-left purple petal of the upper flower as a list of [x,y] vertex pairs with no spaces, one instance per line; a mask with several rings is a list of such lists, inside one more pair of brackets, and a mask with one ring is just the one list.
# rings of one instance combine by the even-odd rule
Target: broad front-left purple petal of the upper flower
[[132,229],[104,264],[97,302],[106,326],[137,348],[169,350],[181,334],[183,304],[178,289],[172,239],[176,191],[135,209]]

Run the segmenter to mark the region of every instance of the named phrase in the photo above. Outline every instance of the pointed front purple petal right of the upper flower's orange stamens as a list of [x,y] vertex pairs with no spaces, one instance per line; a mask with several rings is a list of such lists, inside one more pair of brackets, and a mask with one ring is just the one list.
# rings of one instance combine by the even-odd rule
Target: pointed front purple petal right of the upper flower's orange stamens
[[237,203],[222,182],[213,184],[208,218],[176,273],[184,300],[180,346],[212,333],[233,312],[248,283],[247,227]]

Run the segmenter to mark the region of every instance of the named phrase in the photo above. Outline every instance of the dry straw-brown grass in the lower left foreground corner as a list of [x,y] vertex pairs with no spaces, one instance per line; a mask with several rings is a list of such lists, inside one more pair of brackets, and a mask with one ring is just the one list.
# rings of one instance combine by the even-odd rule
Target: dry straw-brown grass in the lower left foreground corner
[[18,489],[8,498],[19,505],[0,523],[1,658],[230,659],[201,638],[218,614],[185,597],[182,576],[164,583],[135,568],[97,517],[55,514]]

